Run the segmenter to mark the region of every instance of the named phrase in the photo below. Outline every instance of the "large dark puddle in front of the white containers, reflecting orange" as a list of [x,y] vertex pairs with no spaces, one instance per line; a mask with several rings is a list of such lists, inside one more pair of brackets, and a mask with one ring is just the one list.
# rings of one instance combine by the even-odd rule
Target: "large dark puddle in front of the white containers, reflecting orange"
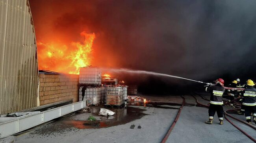
[[[74,120],[74,116],[70,116],[67,118],[59,119],[45,125],[43,128],[39,128],[30,132],[30,136],[36,138],[54,138],[56,136],[63,136],[65,133],[73,132],[75,134],[79,129],[100,129],[107,128],[116,125],[123,125],[134,121],[136,119],[140,119],[145,115],[143,113],[146,109],[127,107],[120,109],[110,109],[116,114],[113,116],[100,116],[98,112],[100,111],[100,107],[91,107],[89,110],[93,116],[100,118],[101,120],[96,121],[87,121],[87,120]],[[87,113],[77,114],[75,116],[88,116]]]

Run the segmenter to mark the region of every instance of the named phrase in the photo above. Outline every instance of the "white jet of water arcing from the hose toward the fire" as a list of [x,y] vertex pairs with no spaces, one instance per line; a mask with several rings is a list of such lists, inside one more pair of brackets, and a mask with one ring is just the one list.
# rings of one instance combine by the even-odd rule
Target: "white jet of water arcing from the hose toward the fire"
[[171,78],[179,78],[179,79],[183,79],[183,80],[204,83],[202,81],[191,80],[188,78],[182,78],[180,76],[173,76],[173,75],[162,74],[162,73],[158,73],[158,72],[140,71],[140,70],[132,70],[132,69],[112,69],[112,68],[102,68],[102,70],[109,71],[109,72],[126,72],[126,73],[133,73],[133,74],[150,74],[150,75],[155,75],[155,76],[166,76],[166,77],[171,77]]

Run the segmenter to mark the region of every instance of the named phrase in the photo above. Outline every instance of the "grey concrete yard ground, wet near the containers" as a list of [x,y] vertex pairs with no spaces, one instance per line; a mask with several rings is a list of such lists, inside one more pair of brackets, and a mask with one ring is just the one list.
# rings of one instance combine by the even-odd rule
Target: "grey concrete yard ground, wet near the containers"
[[[16,142],[160,143],[176,117],[182,98],[180,96],[144,97],[148,102],[134,102],[129,103],[127,108],[110,109],[116,112],[114,116],[99,116],[98,112],[103,106],[90,107],[87,113],[61,118],[37,127],[38,129],[20,134],[16,137]],[[217,115],[214,117],[213,125],[205,124],[204,121],[208,119],[208,109],[195,106],[195,100],[191,96],[184,96],[184,98],[186,98],[186,106],[167,140],[168,143],[252,142],[226,120],[224,125],[219,125]],[[199,96],[197,98],[204,104],[209,102]],[[88,121],[89,116],[95,117],[96,120]],[[241,123],[235,121],[234,123],[256,138],[255,130]]]

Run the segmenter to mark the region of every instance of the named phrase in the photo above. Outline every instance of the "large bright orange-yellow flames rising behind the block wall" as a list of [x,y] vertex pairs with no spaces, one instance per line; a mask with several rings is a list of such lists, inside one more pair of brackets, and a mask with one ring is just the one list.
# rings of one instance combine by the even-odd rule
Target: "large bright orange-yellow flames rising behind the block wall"
[[39,70],[79,74],[79,67],[91,63],[95,34],[80,33],[85,40],[80,42],[37,42]]

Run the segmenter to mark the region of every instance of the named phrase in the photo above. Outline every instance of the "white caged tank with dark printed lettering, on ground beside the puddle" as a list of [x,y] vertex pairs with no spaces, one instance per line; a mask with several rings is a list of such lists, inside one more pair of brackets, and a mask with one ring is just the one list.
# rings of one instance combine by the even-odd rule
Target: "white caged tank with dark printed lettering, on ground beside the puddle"
[[117,105],[124,104],[124,87],[109,86],[106,87],[105,105]]

